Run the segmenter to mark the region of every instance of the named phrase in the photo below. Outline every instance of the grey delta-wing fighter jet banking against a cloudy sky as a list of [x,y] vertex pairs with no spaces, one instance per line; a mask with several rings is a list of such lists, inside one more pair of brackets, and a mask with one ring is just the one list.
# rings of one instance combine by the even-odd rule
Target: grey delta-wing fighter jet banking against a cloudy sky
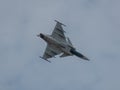
[[47,43],[46,50],[43,56],[42,57],[40,56],[40,58],[48,62],[51,62],[50,60],[48,60],[49,58],[53,58],[56,55],[61,54],[60,57],[76,55],[84,60],[89,60],[87,57],[77,52],[75,47],[71,43],[70,39],[66,38],[65,31],[63,30],[62,27],[66,25],[62,24],[57,20],[55,20],[55,22],[56,22],[56,26],[51,35],[46,35],[42,33],[37,35]]

